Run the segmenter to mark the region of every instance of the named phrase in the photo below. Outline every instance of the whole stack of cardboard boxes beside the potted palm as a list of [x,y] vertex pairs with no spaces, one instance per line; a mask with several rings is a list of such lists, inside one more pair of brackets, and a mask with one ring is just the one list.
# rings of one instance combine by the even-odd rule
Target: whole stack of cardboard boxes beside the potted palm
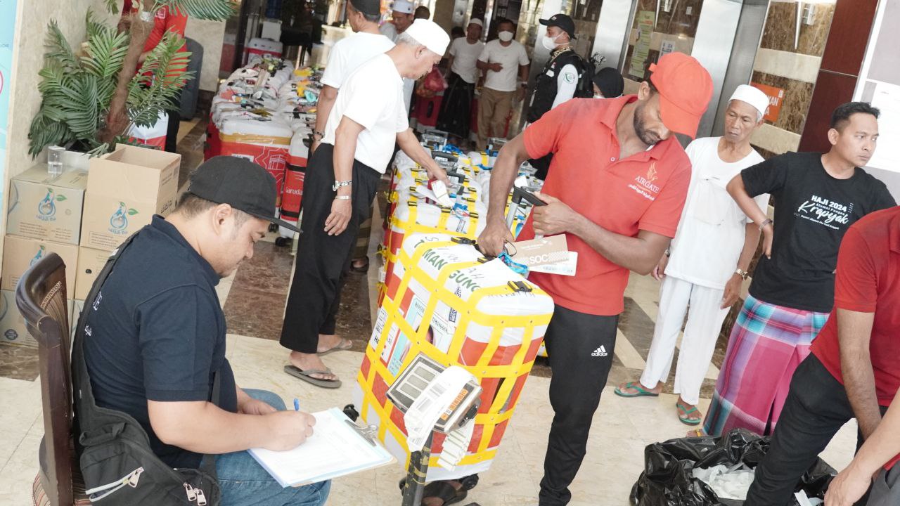
[[66,263],[74,321],[112,250],[154,214],[175,208],[180,165],[181,155],[119,145],[92,158],[89,172],[49,176],[39,165],[15,176],[0,283],[0,341],[37,346],[15,306],[14,290],[28,267],[49,253]]

